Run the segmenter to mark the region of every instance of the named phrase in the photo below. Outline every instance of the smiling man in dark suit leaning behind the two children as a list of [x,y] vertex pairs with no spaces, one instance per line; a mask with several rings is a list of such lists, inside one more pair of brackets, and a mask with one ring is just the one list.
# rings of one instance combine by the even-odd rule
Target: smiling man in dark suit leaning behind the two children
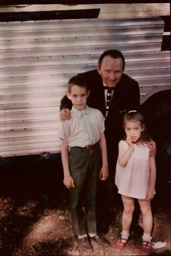
[[[101,193],[99,202],[107,202],[107,199],[112,199],[114,190],[116,190],[114,176],[118,156],[118,142],[122,136],[123,115],[125,112],[140,108],[138,82],[124,74],[124,70],[125,58],[123,54],[118,50],[108,50],[100,56],[95,70],[80,74],[86,78],[91,92],[87,104],[90,107],[101,110],[106,117],[105,136],[107,141],[109,178],[105,181],[105,190]],[[60,118],[62,121],[70,119],[69,109],[71,109],[71,104],[67,97],[64,96],[60,106]],[[155,143],[152,142],[151,144],[151,154],[154,154],[156,151]],[[100,190],[102,191],[102,189]],[[109,202],[106,207],[101,207],[104,209],[104,212],[107,211],[107,206],[109,206]],[[97,211],[99,212],[100,210]],[[109,220],[109,216],[107,216],[106,220]],[[105,227],[103,222],[99,226],[102,230],[99,229],[99,231],[105,233],[109,223]]]

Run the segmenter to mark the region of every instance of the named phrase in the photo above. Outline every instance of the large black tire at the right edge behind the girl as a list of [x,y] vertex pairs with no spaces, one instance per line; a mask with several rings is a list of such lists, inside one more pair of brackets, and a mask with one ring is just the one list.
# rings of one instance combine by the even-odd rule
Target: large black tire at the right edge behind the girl
[[160,205],[170,204],[171,104],[161,103],[149,113],[149,133],[156,142],[156,195]]

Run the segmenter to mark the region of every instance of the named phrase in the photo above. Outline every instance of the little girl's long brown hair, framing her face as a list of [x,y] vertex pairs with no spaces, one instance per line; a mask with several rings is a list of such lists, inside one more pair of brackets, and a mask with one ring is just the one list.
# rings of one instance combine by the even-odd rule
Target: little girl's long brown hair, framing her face
[[[145,123],[144,123],[144,117],[142,115],[142,113],[140,113],[139,111],[136,111],[136,110],[132,110],[132,111],[129,111],[128,113],[126,113],[124,115],[124,120],[123,120],[123,125],[125,126],[125,123],[127,121],[132,121],[132,120],[138,120],[140,121],[140,124],[141,124],[141,127],[144,128],[144,130],[142,131],[141,133],[141,141],[142,142],[145,142],[145,141],[150,141],[151,138],[150,138],[150,135],[148,134],[147,132],[147,128],[145,126]],[[126,132],[124,130],[124,139],[126,140]]]

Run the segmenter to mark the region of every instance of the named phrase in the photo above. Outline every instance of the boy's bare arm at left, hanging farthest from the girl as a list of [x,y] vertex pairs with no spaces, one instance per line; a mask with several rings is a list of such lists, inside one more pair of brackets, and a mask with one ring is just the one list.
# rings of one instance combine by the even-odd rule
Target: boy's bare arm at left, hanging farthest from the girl
[[62,156],[62,163],[63,163],[63,170],[64,170],[64,185],[67,188],[75,187],[74,180],[72,179],[69,171],[68,144],[64,139],[62,139],[61,156]]

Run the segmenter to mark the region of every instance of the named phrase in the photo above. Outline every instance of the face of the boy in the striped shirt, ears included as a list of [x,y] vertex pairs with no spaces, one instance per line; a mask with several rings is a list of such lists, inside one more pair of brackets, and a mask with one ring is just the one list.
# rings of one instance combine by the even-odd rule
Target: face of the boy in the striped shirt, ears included
[[79,85],[73,85],[71,87],[71,92],[67,92],[66,95],[69,100],[71,100],[73,106],[78,110],[83,110],[86,107],[86,100],[90,94],[90,91],[86,92],[85,87]]

